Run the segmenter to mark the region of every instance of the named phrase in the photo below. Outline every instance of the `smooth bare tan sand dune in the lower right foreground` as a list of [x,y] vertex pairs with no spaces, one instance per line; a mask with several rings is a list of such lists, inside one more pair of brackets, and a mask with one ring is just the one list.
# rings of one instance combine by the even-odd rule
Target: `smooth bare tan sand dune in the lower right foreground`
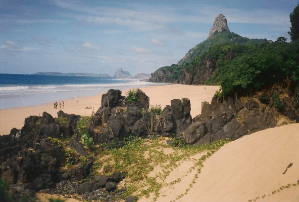
[[299,201],[298,180],[299,124],[292,124],[224,145],[204,162],[186,195],[176,199],[190,182],[175,184],[157,201]]

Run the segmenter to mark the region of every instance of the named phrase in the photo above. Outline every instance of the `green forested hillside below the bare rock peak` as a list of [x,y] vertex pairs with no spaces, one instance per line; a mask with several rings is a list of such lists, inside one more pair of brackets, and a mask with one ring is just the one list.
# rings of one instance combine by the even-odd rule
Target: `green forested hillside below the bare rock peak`
[[[159,68],[151,82],[221,85],[222,94],[261,89],[283,79],[299,78],[299,43],[249,39],[220,32],[190,49],[177,64]],[[297,86],[297,85],[296,85]]]

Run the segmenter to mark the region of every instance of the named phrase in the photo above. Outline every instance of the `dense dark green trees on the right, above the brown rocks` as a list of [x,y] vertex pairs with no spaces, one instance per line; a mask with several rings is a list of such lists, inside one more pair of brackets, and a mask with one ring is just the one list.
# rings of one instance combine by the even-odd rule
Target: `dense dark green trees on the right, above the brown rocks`
[[[296,62],[299,54],[299,42],[245,45],[236,51],[239,45],[226,45],[215,50],[211,47],[209,54],[220,59],[212,78],[206,84],[220,84],[220,98],[233,92],[248,93],[252,90],[273,86],[290,78],[298,86],[299,66]],[[227,50],[236,52],[233,60],[221,59]]]

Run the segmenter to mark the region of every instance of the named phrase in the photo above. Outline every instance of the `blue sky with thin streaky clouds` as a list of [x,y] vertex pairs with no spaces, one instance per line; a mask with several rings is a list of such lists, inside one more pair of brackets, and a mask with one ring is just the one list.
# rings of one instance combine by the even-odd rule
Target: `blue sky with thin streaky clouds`
[[248,38],[289,38],[298,1],[0,0],[0,73],[152,73],[205,41],[218,14]]

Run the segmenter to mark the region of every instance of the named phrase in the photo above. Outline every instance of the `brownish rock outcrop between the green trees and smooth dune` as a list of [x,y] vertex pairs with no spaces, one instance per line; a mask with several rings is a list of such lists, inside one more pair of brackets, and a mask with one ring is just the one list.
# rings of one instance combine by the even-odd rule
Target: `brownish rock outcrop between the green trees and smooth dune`
[[[278,112],[271,107],[273,103],[262,103],[252,98],[242,103],[234,97],[221,101],[215,95],[211,104],[202,103],[202,114],[193,118],[193,123],[183,132],[183,137],[188,144],[204,144],[226,138],[236,140],[243,135],[286,124],[279,123],[280,120],[275,118]],[[286,111],[292,110],[286,109],[281,113]],[[295,122],[298,116],[294,111],[292,114],[288,120]]]

